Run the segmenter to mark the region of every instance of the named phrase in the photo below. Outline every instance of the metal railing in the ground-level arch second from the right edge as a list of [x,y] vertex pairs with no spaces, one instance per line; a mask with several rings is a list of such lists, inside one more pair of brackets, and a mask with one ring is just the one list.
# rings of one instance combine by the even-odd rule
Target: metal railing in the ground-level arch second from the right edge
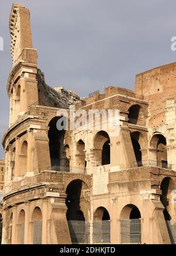
[[121,244],[141,244],[141,220],[121,220]]

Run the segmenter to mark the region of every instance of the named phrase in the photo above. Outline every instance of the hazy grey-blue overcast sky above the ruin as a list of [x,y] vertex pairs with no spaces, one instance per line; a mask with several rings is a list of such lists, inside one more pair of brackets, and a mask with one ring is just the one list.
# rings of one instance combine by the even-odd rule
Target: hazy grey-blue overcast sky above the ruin
[[[12,67],[9,14],[1,0],[0,138],[8,128],[6,81]],[[175,0],[23,0],[31,10],[38,67],[51,87],[64,86],[82,97],[109,85],[134,89],[135,75],[175,62]],[[4,151],[0,146],[0,158]]]

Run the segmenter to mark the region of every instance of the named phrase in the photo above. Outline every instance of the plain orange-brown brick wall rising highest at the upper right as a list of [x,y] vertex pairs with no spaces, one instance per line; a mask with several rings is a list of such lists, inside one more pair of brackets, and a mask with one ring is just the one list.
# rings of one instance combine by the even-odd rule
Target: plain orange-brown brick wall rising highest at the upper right
[[149,125],[158,127],[165,124],[167,100],[176,98],[176,62],[136,75],[135,92],[148,101]]

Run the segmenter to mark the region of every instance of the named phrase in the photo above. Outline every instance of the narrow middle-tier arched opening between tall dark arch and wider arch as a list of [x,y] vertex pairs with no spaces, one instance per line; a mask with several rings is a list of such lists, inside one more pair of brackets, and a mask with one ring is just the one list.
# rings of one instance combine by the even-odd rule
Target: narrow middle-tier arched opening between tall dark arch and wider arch
[[76,143],[76,169],[75,171],[79,171],[79,173],[84,173],[86,169],[86,154],[85,154],[85,144],[82,139],[79,139]]

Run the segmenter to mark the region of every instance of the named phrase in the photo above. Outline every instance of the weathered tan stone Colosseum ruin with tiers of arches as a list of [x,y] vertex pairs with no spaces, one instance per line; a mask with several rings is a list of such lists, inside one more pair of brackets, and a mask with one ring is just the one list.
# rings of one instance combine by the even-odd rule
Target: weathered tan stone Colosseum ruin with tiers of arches
[[[80,98],[46,84],[23,4],[9,30],[2,244],[174,244],[176,62],[136,75],[135,91]],[[98,128],[71,129],[70,107],[118,110],[119,132],[103,114]]]

